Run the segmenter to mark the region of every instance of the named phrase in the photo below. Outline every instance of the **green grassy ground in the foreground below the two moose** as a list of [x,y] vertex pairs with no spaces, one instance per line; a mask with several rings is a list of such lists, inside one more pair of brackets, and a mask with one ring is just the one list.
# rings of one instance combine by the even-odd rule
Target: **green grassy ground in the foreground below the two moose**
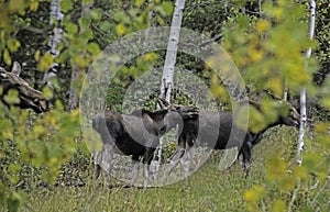
[[[143,189],[121,186],[111,189],[103,188],[95,186],[89,180],[90,183],[85,187],[34,190],[29,194],[22,211],[248,211],[244,193],[254,185],[268,183],[265,177],[266,160],[274,156],[283,156],[287,160],[293,158],[290,156],[292,135],[288,135],[292,131],[284,131],[284,133],[287,136],[283,136],[283,132],[274,132],[272,135],[268,133],[265,140],[256,146],[255,161],[248,178],[238,166],[230,171],[220,171],[219,158],[212,157],[190,176],[188,186],[185,181],[180,181],[143,191]],[[118,185],[118,181],[112,179],[111,183]],[[267,188],[267,194],[261,205],[263,211],[272,211],[273,199],[276,198],[286,204],[289,203],[292,192],[278,191],[272,186]],[[304,189],[298,194],[302,191]],[[315,197],[314,193],[307,193],[297,201],[306,204],[308,196]],[[327,196],[329,197],[329,191],[322,193],[324,201],[327,201]],[[293,209],[293,211],[300,211],[297,207]],[[327,209],[327,207],[321,209]]]

